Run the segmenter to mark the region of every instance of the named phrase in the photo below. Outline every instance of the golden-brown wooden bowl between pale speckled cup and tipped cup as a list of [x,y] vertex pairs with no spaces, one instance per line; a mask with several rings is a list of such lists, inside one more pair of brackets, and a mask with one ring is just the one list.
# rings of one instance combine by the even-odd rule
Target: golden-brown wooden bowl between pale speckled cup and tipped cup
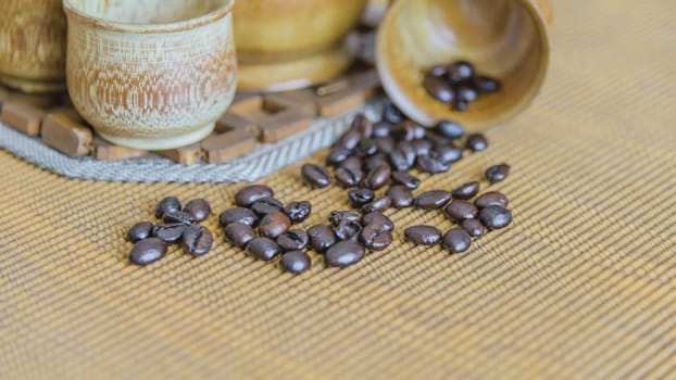
[[342,40],[366,1],[236,1],[239,88],[290,90],[342,73],[353,60]]

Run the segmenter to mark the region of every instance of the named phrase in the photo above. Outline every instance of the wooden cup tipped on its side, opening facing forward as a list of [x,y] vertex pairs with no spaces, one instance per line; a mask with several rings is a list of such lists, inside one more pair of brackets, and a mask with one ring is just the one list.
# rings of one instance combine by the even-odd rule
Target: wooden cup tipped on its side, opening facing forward
[[[402,112],[431,126],[453,119],[473,130],[498,125],[526,109],[549,62],[544,0],[397,0],[377,37],[383,87]],[[423,88],[425,71],[455,60],[473,62],[502,89],[458,112]]]

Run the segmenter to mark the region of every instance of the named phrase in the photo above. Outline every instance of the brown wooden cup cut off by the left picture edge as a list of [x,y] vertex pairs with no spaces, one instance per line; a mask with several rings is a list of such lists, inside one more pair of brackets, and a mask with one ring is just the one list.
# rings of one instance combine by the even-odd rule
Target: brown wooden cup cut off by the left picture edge
[[66,20],[61,0],[4,0],[0,83],[24,92],[65,89]]

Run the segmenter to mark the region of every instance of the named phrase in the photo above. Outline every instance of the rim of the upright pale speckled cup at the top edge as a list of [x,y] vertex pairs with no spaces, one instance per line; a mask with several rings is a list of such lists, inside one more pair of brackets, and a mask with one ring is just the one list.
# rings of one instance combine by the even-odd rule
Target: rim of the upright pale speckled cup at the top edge
[[225,17],[233,11],[235,2],[235,0],[226,0],[225,4],[217,8],[216,10],[213,10],[195,18],[183,20],[172,23],[140,24],[116,22],[108,18],[92,16],[75,8],[71,3],[71,1],[72,0],[63,0],[63,10],[68,18],[73,17],[84,23],[93,24],[98,28],[109,31],[134,34],[162,34],[193,29],[196,27],[211,24],[220,18]]

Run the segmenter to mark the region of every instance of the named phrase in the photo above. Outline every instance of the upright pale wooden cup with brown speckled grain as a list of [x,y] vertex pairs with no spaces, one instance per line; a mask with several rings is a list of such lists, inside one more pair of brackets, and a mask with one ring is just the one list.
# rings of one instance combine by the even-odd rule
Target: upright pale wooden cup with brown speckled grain
[[107,140],[147,150],[206,137],[236,89],[233,0],[64,0],[66,78]]

